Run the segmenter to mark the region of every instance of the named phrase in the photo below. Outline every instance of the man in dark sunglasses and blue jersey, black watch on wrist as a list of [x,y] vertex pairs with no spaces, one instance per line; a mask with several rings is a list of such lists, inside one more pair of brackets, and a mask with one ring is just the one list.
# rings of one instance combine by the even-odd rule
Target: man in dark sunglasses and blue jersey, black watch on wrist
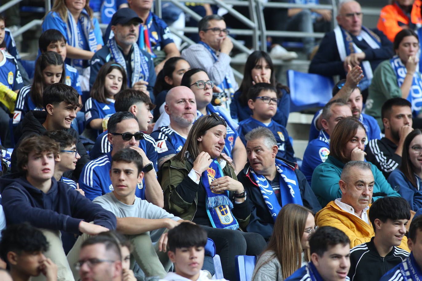
[[[114,190],[111,183],[109,171],[111,169],[111,158],[123,148],[136,150],[141,155],[145,173],[144,180],[138,182],[135,195],[146,199],[154,205],[163,207],[164,197],[152,163],[146,156],[144,150],[139,147],[139,141],[144,134],[139,131],[138,118],[128,111],[120,111],[111,115],[107,124],[108,142],[113,146],[110,152],[87,163],[81,173],[79,186],[90,200],[109,193]],[[148,185],[148,188],[146,188]]]

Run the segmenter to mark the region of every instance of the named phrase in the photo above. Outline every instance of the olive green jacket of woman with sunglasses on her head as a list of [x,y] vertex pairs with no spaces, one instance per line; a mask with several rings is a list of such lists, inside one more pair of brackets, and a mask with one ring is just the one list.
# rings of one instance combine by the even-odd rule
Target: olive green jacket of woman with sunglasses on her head
[[[162,164],[158,174],[158,181],[164,192],[164,209],[175,216],[187,220],[192,220],[195,217],[198,202],[197,190],[198,188],[204,188],[201,181],[197,185],[188,177],[192,167],[193,164],[188,159],[185,158],[184,161],[179,161],[173,157]],[[235,171],[230,165],[224,167],[223,174],[237,180]],[[184,190],[185,198],[182,198],[177,190]],[[229,194],[232,201],[234,200],[233,194],[233,192]],[[239,226],[245,229],[251,215],[251,207],[247,196],[245,202],[240,204],[233,203],[233,206],[233,216],[237,219]]]

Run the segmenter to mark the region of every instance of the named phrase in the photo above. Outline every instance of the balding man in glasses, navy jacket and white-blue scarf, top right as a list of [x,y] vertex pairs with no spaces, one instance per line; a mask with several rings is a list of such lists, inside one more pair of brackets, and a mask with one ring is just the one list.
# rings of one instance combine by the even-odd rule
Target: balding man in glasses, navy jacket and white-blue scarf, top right
[[363,13],[360,4],[344,0],[338,4],[338,27],[325,34],[317,54],[311,61],[309,73],[325,76],[340,75],[346,78],[348,65],[360,65],[364,78],[361,90],[371,84],[372,71],[380,62],[393,56],[392,43],[378,29],[362,26]]

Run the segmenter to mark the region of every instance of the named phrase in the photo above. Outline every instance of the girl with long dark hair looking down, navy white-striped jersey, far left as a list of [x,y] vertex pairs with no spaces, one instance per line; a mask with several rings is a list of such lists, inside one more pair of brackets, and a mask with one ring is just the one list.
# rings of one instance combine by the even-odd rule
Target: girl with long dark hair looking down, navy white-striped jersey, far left
[[34,81],[19,91],[16,98],[13,124],[16,126],[30,110],[43,110],[43,91],[54,83],[63,83],[65,64],[56,52],[45,52],[35,63]]

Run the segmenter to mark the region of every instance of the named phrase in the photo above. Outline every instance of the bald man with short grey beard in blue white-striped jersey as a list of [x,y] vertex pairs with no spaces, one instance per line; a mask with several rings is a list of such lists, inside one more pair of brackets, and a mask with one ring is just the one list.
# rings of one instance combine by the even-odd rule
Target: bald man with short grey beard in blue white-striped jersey
[[151,133],[156,141],[158,167],[183,147],[197,117],[195,94],[185,86],[171,88],[165,96],[164,109],[170,117],[170,125]]

